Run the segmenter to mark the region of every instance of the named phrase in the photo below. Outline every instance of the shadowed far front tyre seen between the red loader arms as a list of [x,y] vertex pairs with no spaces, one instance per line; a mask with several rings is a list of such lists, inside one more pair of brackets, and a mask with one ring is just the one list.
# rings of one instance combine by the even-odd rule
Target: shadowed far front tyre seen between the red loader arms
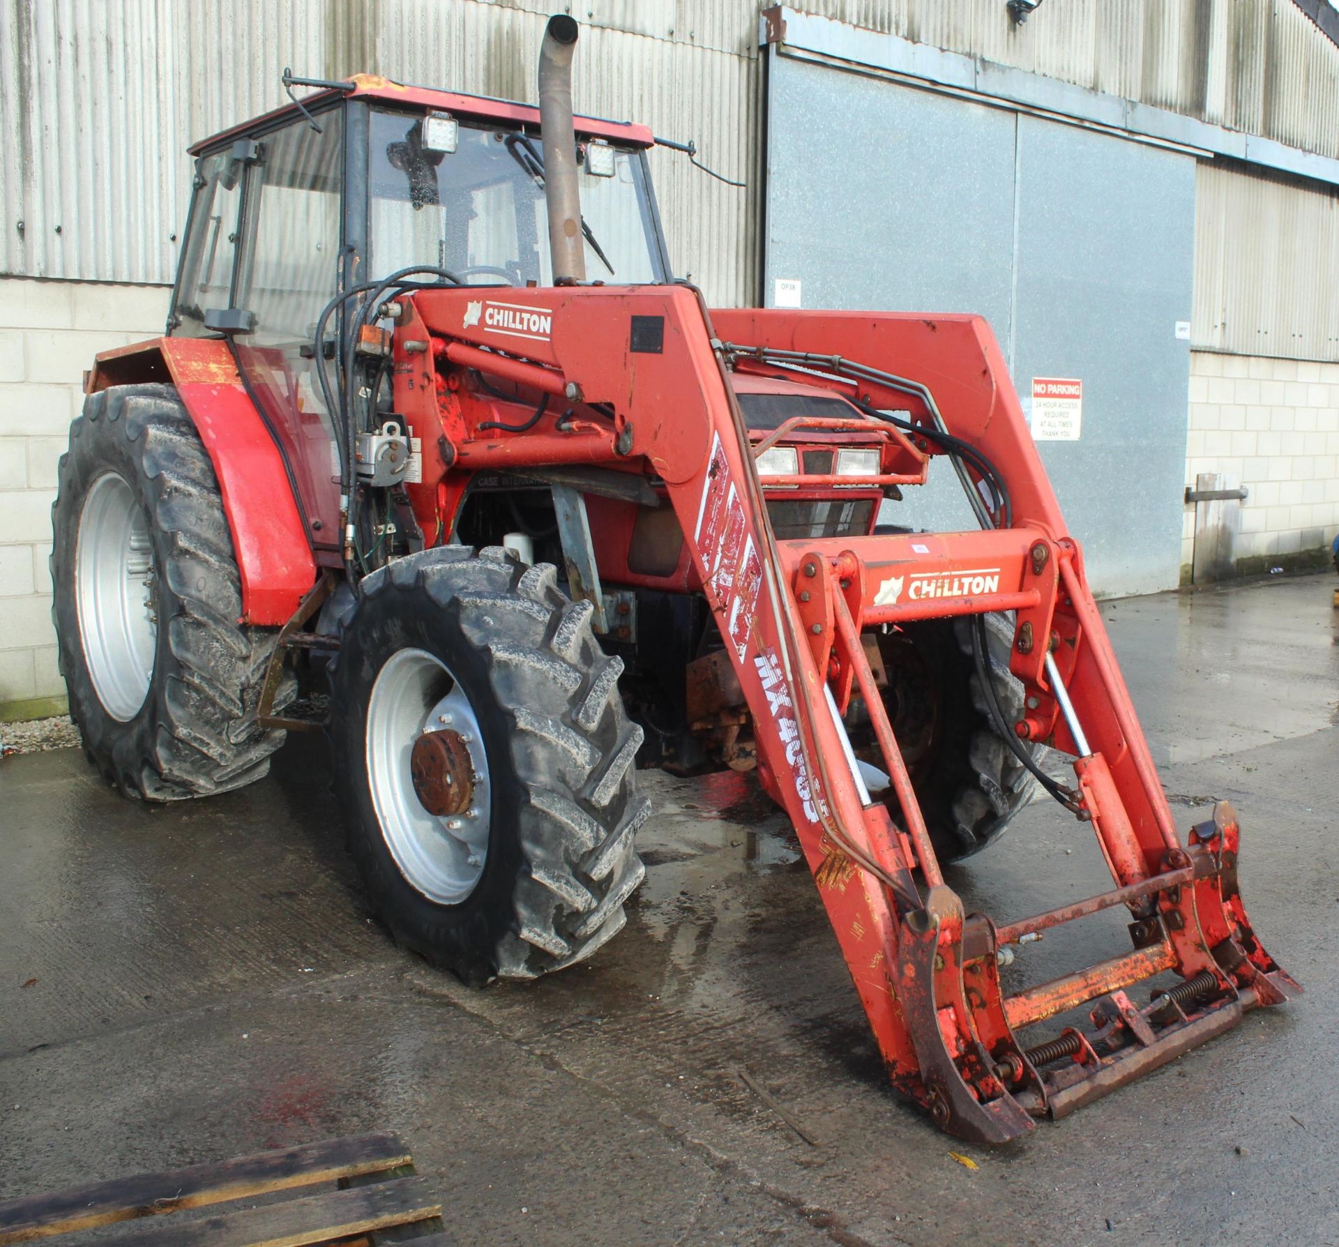
[[[1014,628],[1006,615],[984,619],[986,675],[1006,722],[1014,723],[1023,715],[1023,686],[1008,668]],[[940,619],[880,635],[889,676],[886,709],[941,864],[971,857],[999,838],[1035,784],[991,718],[971,628],[971,617]],[[900,817],[890,792],[888,802]]]

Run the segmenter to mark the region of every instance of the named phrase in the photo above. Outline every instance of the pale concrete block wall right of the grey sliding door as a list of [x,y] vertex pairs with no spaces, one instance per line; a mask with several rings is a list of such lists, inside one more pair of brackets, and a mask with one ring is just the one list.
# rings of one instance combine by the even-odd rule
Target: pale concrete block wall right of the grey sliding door
[[[1185,478],[1235,477],[1251,493],[1233,542],[1237,571],[1322,561],[1339,533],[1339,363],[1190,354]],[[1194,506],[1181,533],[1182,583]]]

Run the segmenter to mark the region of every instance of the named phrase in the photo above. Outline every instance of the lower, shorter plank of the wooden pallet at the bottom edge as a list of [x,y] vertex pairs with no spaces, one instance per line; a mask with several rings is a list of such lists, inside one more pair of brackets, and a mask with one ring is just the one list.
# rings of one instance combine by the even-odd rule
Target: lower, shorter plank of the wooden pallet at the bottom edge
[[198,1220],[173,1218],[162,1226],[133,1230],[116,1239],[116,1247],[309,1247],[441,1215],[442,1201],[428,1179],[399,1177],[260,1208],[212,1212]]

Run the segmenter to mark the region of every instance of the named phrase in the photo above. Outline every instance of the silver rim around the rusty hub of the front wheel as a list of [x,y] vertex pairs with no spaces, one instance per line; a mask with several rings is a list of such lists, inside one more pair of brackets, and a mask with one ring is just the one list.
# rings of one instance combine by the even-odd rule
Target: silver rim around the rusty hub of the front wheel
[[[450,818],[423,809],[410,773],[414,742],[442,729],[461,734],[474,770],[473,806]],[[489,757],[465,688],[426,650],[399,650],[378,672],[367,705],[367,778],[386,847],[406,881],[441,905],[465,900],[489,856]]]

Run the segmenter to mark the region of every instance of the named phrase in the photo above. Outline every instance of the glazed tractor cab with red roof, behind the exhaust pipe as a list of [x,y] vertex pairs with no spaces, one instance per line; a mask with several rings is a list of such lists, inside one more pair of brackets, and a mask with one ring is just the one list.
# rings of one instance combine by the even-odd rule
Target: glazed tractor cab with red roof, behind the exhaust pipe
[[[336,421],[313,371],[321,312],[411,265],[469,285],[552,285],[538,125],[525,104],[358,75],[190,149],[167,332],[229,339],[317,553],[337,551],[340,528]],[[576,133],[590,279],[668,280],[651,131],[576,118]]]

